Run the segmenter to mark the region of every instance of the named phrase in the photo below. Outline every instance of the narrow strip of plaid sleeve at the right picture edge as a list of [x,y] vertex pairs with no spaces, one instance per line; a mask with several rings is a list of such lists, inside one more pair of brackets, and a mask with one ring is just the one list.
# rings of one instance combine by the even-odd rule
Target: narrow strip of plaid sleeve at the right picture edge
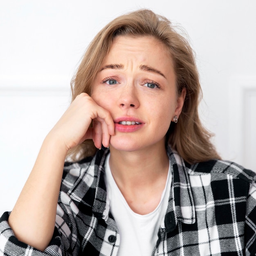
[[247,198],[245,255],[256,255],[256,181],[252,184]]

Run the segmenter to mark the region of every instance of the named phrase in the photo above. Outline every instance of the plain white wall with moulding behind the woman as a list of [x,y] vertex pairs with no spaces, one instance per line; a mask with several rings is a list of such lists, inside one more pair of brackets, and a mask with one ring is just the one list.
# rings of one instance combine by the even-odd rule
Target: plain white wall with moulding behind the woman
[[186,29],[204,92],[202,120],[223,158],[256,170],[254,0],[1,1],[0,215],[12,209],[43,138],[67,108],[90,40],[143,7]]

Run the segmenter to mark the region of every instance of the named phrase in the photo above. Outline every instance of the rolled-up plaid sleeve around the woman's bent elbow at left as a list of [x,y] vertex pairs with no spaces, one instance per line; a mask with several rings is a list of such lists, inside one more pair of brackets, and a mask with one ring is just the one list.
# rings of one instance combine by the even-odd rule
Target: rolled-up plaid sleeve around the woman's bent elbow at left
[[72,211],[59,202],[52,240],[44,252],[20,242],[8,224],[10,212],[0,218],[0,256],[76,256],[79,252],[76,222]]

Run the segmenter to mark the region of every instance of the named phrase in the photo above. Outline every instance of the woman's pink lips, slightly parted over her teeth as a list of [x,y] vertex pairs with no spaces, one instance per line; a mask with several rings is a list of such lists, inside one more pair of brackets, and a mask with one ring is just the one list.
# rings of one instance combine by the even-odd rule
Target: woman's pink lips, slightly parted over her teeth
[[[135,122],[135,124],[121,124],[122,121],[130,121]],[[119,117],[114,120],[115,130],[119,132],[135,132],[139,130],[142,126],[144,126],[144,122],[136,117]]]

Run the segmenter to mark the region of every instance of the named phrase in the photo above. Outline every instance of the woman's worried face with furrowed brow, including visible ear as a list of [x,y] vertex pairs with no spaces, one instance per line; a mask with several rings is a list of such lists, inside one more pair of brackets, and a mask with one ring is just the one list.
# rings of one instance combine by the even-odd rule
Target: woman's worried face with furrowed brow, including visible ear
[[164,147],[184,94],[177,95],[172,60],[162,43],[147,36],[119,36],[97,73],[91,96],[115,122],[110,146],[135,151]]

